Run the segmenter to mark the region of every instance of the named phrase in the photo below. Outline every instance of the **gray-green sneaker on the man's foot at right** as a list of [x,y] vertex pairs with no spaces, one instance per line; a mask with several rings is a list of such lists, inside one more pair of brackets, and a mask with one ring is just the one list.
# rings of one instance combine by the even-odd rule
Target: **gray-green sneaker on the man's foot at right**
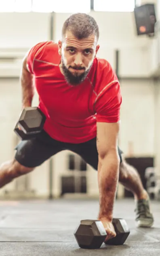
[[149,209],[149,200],[138,200],[136,202],[136,223],[137,227],[150,228],[154,223],[154,218]]

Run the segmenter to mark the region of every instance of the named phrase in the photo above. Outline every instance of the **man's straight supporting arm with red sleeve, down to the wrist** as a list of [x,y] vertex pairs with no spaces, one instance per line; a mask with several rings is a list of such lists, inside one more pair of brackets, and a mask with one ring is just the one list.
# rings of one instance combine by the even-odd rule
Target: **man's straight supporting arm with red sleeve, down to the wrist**
[[[109,71],[107,72],[107,70]],[[106,67],[101,82],[101,91],[95,100],[95,112],[97,113],[97,151],[99,156],[99,218],[106,218],[108,221],[112,221],[119,178],[118,135],[121,103],[120,83],[113,69]]]

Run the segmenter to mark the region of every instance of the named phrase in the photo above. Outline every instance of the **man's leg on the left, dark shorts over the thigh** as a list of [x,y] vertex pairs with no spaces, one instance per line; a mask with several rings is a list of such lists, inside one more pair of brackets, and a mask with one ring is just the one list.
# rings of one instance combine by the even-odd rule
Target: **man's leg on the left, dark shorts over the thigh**
[[35,139],[21,141],[15,158],[0,165],[0,188],[13,179],[28,174],[62,149],[62,143],[42,131]]

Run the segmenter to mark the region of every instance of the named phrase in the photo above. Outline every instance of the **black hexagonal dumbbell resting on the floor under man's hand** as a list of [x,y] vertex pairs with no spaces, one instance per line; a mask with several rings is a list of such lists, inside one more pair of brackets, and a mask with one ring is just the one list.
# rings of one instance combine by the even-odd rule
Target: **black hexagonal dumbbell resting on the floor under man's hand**
[[107,233],[103,223],[99,220],[85,219],[80,221],[80,225],[76,228],[74,236],[80,248],[83,249],[98,249],[104,242],[107,245],[122,245],[130,230],[124,219],[113,219],[116,236],[105,242]]

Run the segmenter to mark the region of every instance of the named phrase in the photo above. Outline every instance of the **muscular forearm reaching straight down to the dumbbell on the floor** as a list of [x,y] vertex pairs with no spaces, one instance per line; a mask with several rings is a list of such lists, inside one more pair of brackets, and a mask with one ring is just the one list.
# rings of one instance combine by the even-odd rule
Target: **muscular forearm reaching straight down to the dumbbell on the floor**
[[99,156],[98,183],[99,183],[99,218],[108,218],[112,221],[114,200],[119,176],[119,158],[116,150],[110,151],[103,158]]

